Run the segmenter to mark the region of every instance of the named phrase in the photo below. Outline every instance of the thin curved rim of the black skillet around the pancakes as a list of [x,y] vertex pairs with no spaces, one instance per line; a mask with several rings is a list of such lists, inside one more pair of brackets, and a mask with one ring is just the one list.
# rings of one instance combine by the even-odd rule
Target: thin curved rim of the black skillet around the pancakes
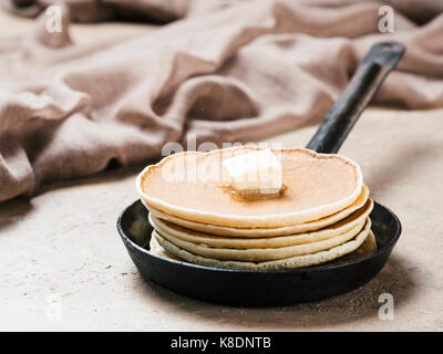
[[[216,268],[216,267],[207,267],[207,266],[200,266],[200,264],[194,264],[194,263],[189,263],[186,261],[177,261],[174,259],[167,259],[157,254],[154,254],[152,252],[150,252],[148,250],[146,250],[145,248],[138,246],[137,243],[135,243],[133,240],[130,239],[130,237],[125,233],[125,231],[122,228],[122,219],[123,216],[128,211],[128,209],[131,209],[134,205],[136,205],[137,202],[141,202],[140,199],[135,200],[134,202],[132,202],[131,205],[128,205],[126,208],[123,209],[123,211],[121,211],[121,214],[119,215],[117,221],[116,221],[116,228],[117,228],[117,232],[120,235],[120,237],[122,238],[123,242],[125,244],[131,246],[132,248],[136,249],[137,251],[142,252],[143,254],[147,256],[147,257],[153,257],[155,259],[157,259],[158,261],[162,262],[166,262],[166,263],[172,263],[175,266],[181,266],[181,267],[187,267],[190,269],[195,269],[195,270],[200,270],[200,271],[212,271],[212,272],[218,272],[218,273],[228,273],[228,274],[233,274],[233,273],[243,273],[243,274],[301,274],[301,273],[306,273],[307,271],[309,272],[323,272],[323,271],[330,271],[330,270],[334,270],[334,269],[339,269],[339,268],[347,268],[347,267],[351,267],[353,264],[357,263],[361,263],[364,262],[368,259],[372,259],[375,258],[377,256],[379,256],[380,253],[383,253],[387,249],[390,249],[393,244],[396,243],[396,241],[399,240],[401,232],[402,232],[402,225],[400,222],[400,219],[396,217],[396,215],[389,209],[388,207],[379,204],[378,201],[373,200],[374,202],[374,208],[383,208],[387,211],[390,212],[390,215],[393,217],[394,222],[395,222],[395,235],[394,237],[389,240],[385,244],[383,244],[383,247],[377,249],[377,251],[353,259],[353,260],[349,260],[349,261],[344,261],[342,263],[339,264],[319,264],[319,266],[313,266],[313,267],[306,267],[306,268],[296,268],[296,269],[282,269],[282,270],[245,270],[245,269],[226,269],[226,268]],[[147,211],[148,212],[148,211]]]

